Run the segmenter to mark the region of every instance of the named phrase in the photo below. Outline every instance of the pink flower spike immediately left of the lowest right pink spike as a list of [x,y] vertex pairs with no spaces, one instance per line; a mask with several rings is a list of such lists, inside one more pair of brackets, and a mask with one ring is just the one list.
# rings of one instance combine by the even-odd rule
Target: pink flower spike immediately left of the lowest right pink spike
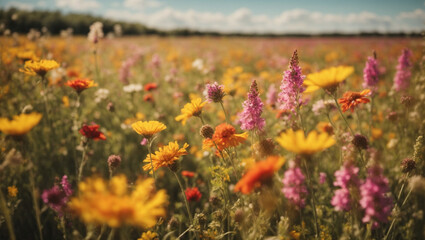
[[340,189],[335,190],[331,204],[337,211],[349,211],[351,209],[350,188],[358,188],[360,184],[358,173],[359,168],[351,162],[346,162],[340,170],[335,172],[334,186],[340,187]]

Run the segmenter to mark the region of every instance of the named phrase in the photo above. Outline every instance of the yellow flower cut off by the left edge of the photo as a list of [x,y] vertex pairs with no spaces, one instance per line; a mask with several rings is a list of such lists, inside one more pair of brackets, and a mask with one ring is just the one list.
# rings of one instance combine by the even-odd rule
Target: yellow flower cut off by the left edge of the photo
[[0,131],[13,136],[24,135],[35,127],[41,120],[42,114],[30,113],[13,116],[13,120],[0,118]]

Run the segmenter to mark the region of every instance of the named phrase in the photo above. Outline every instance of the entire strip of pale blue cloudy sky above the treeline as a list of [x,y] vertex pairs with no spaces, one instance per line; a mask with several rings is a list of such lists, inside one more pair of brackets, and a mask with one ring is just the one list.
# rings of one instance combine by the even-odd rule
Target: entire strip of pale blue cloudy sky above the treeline
[[93,13],[161,29],[256,33],[425,29],[425,1],[416,0],[2,0],[0,6]]

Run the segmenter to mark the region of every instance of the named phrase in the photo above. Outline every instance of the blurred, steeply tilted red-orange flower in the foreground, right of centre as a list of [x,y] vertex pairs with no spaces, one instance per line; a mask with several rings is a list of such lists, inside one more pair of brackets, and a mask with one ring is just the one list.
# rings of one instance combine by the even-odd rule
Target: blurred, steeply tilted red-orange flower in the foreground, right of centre
[[249,194],[254,188],[269,181],[284,163],[285,160],[278,156],[269,156],[265,161],[255,163],[236,183],[234,191]]

